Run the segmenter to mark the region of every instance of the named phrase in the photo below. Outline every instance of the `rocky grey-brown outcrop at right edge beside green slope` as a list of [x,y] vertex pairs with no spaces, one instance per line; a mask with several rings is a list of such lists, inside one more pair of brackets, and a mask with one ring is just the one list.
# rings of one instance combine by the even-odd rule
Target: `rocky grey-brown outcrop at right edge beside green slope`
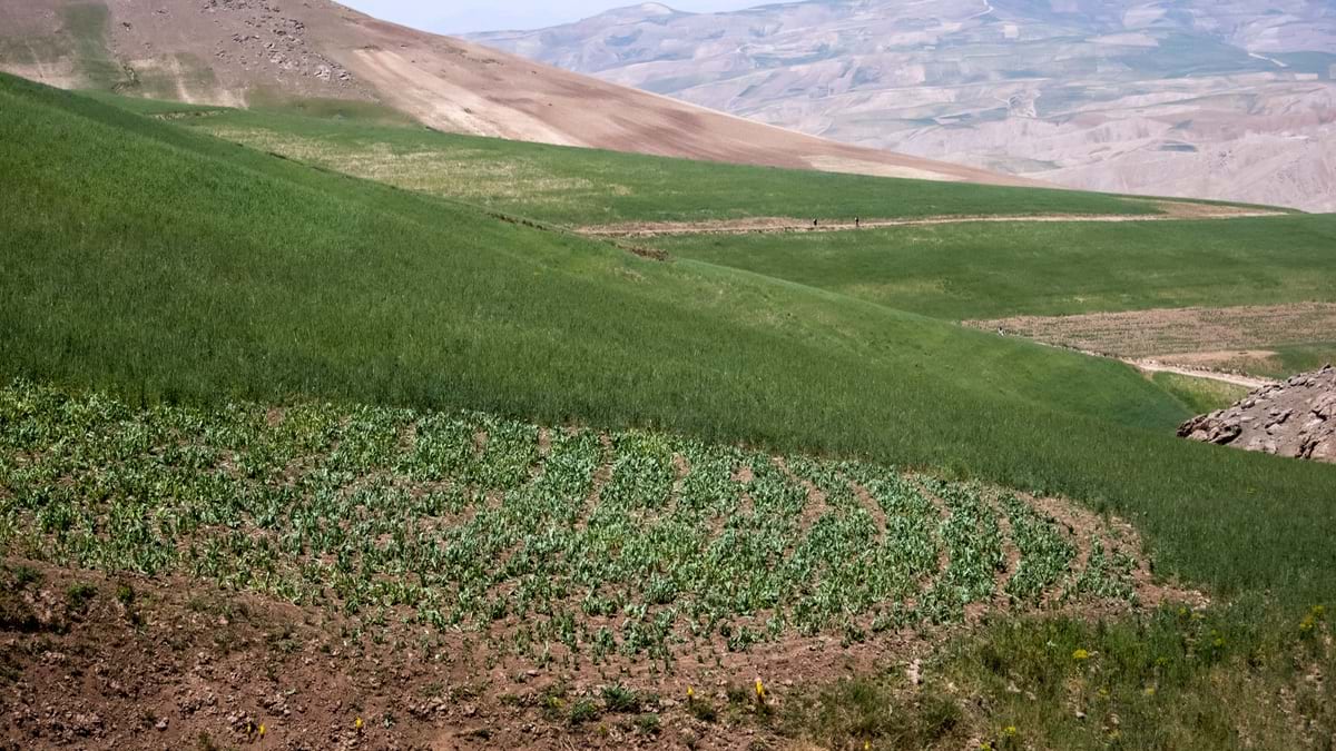
[[1259,389],[1178,429],[1193,441],[1336,464],[1336,367]]

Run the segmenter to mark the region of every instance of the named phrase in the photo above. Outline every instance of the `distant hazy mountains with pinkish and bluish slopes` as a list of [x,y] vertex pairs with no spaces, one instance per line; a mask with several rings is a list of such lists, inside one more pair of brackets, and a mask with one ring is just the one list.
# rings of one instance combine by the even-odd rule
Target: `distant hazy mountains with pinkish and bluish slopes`
[[473,39],[860,146],[1336,211],[1332,0],[651,3]]

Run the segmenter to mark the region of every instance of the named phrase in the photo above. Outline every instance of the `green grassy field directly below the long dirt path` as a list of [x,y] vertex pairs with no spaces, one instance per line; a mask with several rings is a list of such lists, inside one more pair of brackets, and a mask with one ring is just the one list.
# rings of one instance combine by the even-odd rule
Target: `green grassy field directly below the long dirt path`
[[949,319],[1336,301],[1336,254],[1323,253],[1336,247],[1336,215],[973,223],[653,245]]

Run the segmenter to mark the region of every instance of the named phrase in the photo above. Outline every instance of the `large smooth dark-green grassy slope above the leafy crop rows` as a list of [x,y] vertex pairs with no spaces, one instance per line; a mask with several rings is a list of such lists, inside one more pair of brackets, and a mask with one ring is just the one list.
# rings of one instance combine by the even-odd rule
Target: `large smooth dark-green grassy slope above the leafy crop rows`
[[1113,425],[1185,416],[1118,365],[647,262],[0,86],[0,128],[19,134],[0,175],[21,186],[0,191],[9,374],[652,424],[955,468],[1108,504],[1162,571],[1221,591],[1332,589],[1336,470]]

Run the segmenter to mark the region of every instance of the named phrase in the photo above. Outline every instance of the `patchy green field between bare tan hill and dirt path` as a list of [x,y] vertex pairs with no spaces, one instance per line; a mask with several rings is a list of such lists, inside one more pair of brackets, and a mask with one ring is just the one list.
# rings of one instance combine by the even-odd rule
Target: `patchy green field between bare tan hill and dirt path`
[[[155,103],[118,104],[162,111]],[[218,110],[190,123],[311,164],[568,224],[1156,211],[1145,200],[1102,194],[713,164],[275,111]]]

